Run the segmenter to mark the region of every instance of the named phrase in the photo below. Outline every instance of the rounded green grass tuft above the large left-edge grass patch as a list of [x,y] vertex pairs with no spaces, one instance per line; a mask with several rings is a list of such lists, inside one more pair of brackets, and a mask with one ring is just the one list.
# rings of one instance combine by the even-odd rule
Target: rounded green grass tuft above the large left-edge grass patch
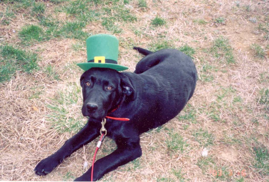
[[22,27],[18,35],[22,43],[26,45],[45,40],[43,29],[36,25],[26,25]]

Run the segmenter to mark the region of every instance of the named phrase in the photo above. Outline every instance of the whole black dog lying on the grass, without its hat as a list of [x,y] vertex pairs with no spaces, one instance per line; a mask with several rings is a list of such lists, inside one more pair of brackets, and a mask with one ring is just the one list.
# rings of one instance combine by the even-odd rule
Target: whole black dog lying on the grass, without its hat
[[[130,121],[107,119],[107,136],[115,140],[118,148],[95,162],[93,180],[98,180],[140,157],[139,135],[166,123],[183,109],[193,95],[197,80],[190,57],[174,49],[155,53],[134,49],[147,55],[136,65],[134,73],[91,68],[82,74],[82,114],[89,116],[89,121],[58,151],[40,161],[34,169],[36,174],[50,173],[63,159],[98,137],[101,120],[107,115],[129,118]],[[110,113],[115,108],[118,109]],[[91,168],[75,181],[90,179]]]

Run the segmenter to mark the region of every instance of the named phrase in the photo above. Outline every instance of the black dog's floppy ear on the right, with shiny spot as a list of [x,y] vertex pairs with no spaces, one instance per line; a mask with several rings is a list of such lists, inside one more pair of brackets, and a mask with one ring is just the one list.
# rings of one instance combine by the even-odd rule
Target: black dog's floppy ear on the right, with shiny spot
[[126,77],[125,75],[121,75],[120,86],[121,86],[123,94],[128,96],[131,100],[135,100],[136,91],[135,91],[130,79],[128,77]]

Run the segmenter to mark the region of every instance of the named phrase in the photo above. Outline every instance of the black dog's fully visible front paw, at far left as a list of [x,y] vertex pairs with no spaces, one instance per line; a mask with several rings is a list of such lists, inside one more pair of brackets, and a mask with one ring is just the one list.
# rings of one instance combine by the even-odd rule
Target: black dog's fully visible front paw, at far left
[[55,159],[53,156],[49,156],[36,165],[34,172],[40,176],[46,175],[50,173],[59,163],[59,160]]

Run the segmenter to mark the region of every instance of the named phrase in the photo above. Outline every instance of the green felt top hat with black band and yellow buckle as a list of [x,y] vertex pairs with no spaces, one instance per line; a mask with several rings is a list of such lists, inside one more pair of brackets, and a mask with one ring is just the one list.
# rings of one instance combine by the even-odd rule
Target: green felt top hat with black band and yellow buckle
[[117,71],[127,70],[128,67],[118,65],[119,41],[113,35],[97,34],[86,40],[87,63],[77,65],[84,71],[93,67],[111,68]]

